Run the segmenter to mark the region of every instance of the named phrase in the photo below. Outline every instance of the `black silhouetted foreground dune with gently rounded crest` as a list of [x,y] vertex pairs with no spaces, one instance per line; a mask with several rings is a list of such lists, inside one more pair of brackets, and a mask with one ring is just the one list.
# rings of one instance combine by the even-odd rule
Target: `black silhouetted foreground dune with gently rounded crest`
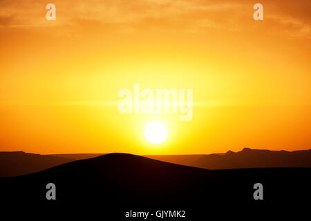
[[[104,214],[126,218],[126,211],[149,211],[146,220],[209,220],[218,211],[304,211],[310,206],[310,168],[206,170],[122,153],[68,162],[51,169],[0,178],[1,201],[10,208],[71,215]],[[46,184],[56,185],[56,200],[46,200]],[[263,184],[263,200],[253,186]],[[5,208],[5,207],[2,207]],[[4,210],[4,209],[3,209]],[[186,218],[156,218],[158,210],[186,211]],[[301,211],[299,213],[301,213]]]

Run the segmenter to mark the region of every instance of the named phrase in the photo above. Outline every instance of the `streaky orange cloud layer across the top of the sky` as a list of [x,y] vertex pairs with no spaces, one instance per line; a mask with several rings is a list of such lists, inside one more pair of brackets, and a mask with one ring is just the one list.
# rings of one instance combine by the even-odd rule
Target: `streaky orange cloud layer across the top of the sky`
[[[46,1],[0,1],[0,26],[40,27],[66,26],[68,32],[81,28],[107,31],[135,32],[156,30],[167,32],[209,32],[211,29],[237,32],[249,30],[253,1],[216,0],[53,0],[57,21],[45,20]],[[265,26],[292,37],[310,38],[310,10],[308,0],[262,1]],[[272,23],[270,23],[272,21]],[[276,23],[277,25],[275,25]],[[256,28],[254,28],[256,31]]]

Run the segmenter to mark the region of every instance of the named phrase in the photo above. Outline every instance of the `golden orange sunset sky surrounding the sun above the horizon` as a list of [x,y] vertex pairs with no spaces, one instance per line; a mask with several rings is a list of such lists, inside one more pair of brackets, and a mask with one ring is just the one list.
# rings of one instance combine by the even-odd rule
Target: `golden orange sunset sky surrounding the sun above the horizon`
[[[1,0],[0,49],[0,151],[311,148],[308,0]],[[120,113],[135,83],[192,89],[193,118]],[[162,144],[144,138],[152,121],[167,126]]]

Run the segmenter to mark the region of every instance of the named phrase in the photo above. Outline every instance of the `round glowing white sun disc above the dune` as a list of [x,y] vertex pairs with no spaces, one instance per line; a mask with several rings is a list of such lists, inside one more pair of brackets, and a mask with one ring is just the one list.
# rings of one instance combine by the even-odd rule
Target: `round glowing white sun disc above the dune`
[[150,122],[144,128],[144,137],[151,144],[160,144],[167,139],[167,127],[161,122]]

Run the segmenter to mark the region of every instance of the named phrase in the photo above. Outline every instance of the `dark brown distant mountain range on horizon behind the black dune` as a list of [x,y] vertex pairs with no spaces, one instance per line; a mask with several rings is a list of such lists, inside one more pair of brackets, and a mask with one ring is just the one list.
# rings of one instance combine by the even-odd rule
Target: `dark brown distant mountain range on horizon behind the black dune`
[[[0,177],[36,173],[44,169],[97,157],[100,153],[39,155],[33,153],[0,152]],[[154,160],[203,169],[247,169],[262,167],[311,167],[311,150],[268,151],[243,148],[242,151],[209,155],[145,155]]]

